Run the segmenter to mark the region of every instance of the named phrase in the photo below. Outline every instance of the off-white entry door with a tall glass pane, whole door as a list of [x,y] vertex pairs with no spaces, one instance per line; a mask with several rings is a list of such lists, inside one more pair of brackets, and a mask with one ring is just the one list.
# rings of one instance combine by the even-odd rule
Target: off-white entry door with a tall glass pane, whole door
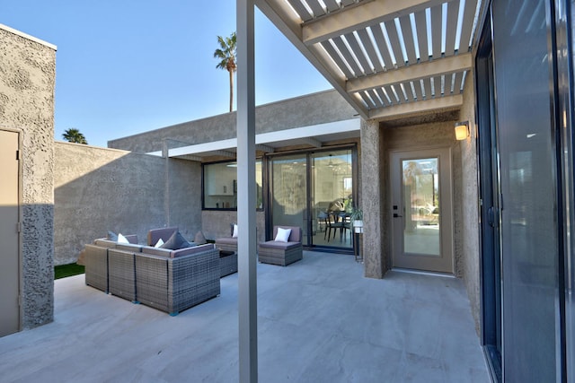
[[451,152],[392,152],[394,267],[453,274]]

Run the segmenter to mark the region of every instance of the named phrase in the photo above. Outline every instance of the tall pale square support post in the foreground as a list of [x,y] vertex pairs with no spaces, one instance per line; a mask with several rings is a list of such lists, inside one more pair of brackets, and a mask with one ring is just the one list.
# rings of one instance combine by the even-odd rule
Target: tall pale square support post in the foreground
[[253,0],[236,0],[240,382],[258,381]]

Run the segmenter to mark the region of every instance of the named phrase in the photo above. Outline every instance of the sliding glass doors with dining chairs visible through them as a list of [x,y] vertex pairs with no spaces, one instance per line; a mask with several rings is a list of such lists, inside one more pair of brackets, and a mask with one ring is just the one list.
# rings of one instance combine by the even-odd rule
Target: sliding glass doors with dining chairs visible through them
[[270,229],[300,226],[304,245],[352,248],[352,149],[301,152],[270,160]]

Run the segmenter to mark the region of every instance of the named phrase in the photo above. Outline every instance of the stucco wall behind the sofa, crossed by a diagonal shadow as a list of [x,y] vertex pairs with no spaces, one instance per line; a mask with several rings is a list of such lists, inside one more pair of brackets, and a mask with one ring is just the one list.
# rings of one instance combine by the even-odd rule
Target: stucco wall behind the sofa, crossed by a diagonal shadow
[[178,226],[201,230],[201,169],[192,161],[83,144],[55,144],[55,262],[73,263],[108,231],[137,234]]

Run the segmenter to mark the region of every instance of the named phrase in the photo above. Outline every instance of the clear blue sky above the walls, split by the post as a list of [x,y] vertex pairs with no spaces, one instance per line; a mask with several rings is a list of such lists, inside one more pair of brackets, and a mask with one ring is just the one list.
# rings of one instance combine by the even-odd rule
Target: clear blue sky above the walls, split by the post
[[[0,0],[0,9],[0,23],[57,46],[57,140],[74,127],[106,146],[229,109],[213,54],[217,36],[235,30],[235,0]],[[257,105],[331,88],[257,8],[255,28]]]

